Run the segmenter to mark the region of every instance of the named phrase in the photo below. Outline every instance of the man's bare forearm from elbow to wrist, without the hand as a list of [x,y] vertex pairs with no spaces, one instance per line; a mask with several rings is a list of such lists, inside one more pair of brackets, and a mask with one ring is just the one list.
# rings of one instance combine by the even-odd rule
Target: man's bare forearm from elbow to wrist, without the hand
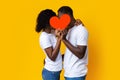
[[73,46],[68,40],[63,40],[64,44],[66,45],[66,47],[78,58],[82,58],[83,57],[83,53],[82,50],[80,48],[77,48],[75,46]]

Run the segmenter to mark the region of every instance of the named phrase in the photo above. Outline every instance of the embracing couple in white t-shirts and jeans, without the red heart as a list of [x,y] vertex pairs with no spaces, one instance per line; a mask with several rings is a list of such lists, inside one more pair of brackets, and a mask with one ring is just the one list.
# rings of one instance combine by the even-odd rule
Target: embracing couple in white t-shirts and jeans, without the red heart
[[62,6],[58,10],[58,17],[63,14],[68,14],[71,18],[70,24],[63,31],[55,30],[50,26],[50,18],[56,16],[52,10],[41,11],[37,18],[36,31],[42,31],[39,41],[46,54],[42,78],[60,80],[62,70],[60,45],[63,41],[67,47],[63,58],[65,80],[85,80],[88,63],[88,32],[81,22],[77,23],[79,25],[76,24],[77,21],[70,7]]

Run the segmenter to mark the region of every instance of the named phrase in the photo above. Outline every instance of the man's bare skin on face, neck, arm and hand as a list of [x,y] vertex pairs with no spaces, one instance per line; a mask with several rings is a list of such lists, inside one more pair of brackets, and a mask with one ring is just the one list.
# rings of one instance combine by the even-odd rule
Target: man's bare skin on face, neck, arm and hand
[[[58,12],[58,16],[60,17],[61,15],[63,15],[63,13],[61,12]],[[68,14],[69,15],[69,14]],[[68,30],[70,28],[72,28],[75,24],[75,18],[73,16],[71,16],[71,23],[69,24],[69,27],[68,29],[62,31],[62,35],[63,38],[62,38],[62,41],[63,43],[66,45],[66,47],[75,55],[77,56],[79,59],[82,59],[85,55],[85,51],[86,51],[86,48],[87,46],[81,46],[81,45],[77,45],[77,47],[73,46],[67,39],[66,39],[66,35],[68,33]],[[82,23],[81,23],[82,24]]]

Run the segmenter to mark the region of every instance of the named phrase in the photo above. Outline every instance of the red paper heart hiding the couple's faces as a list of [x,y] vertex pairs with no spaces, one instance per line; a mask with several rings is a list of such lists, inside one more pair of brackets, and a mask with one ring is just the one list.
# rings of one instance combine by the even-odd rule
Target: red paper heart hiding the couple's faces
[[60,18],[53,16],[50,18],[50,25],[58,30],[64,30],[70,23],[70,16],[63,14]]

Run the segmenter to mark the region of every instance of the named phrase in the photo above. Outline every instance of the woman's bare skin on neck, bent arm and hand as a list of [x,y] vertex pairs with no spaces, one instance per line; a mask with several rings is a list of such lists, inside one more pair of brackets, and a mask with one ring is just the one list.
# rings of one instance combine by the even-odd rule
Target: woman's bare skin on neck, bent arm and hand
[[[51,29],[50,28],[47,28],[44,30],[45,32],[47,33],[51,33]],[[60,32],[56,32],[56,35],[59,35]],[[55,45],[55,48],[53,49],[53,47],[48,47],[45,49],[45,52],[47,54],[47,56],[52,60],[52,61],[55,61],[56,58],[57,58],[57,55],[59,53],[59,50],[60,50],[60,45],[61,45],[61,36],[58,36],[57,37],[57,43]],[[45,63],[45,61],[44,61]]]

